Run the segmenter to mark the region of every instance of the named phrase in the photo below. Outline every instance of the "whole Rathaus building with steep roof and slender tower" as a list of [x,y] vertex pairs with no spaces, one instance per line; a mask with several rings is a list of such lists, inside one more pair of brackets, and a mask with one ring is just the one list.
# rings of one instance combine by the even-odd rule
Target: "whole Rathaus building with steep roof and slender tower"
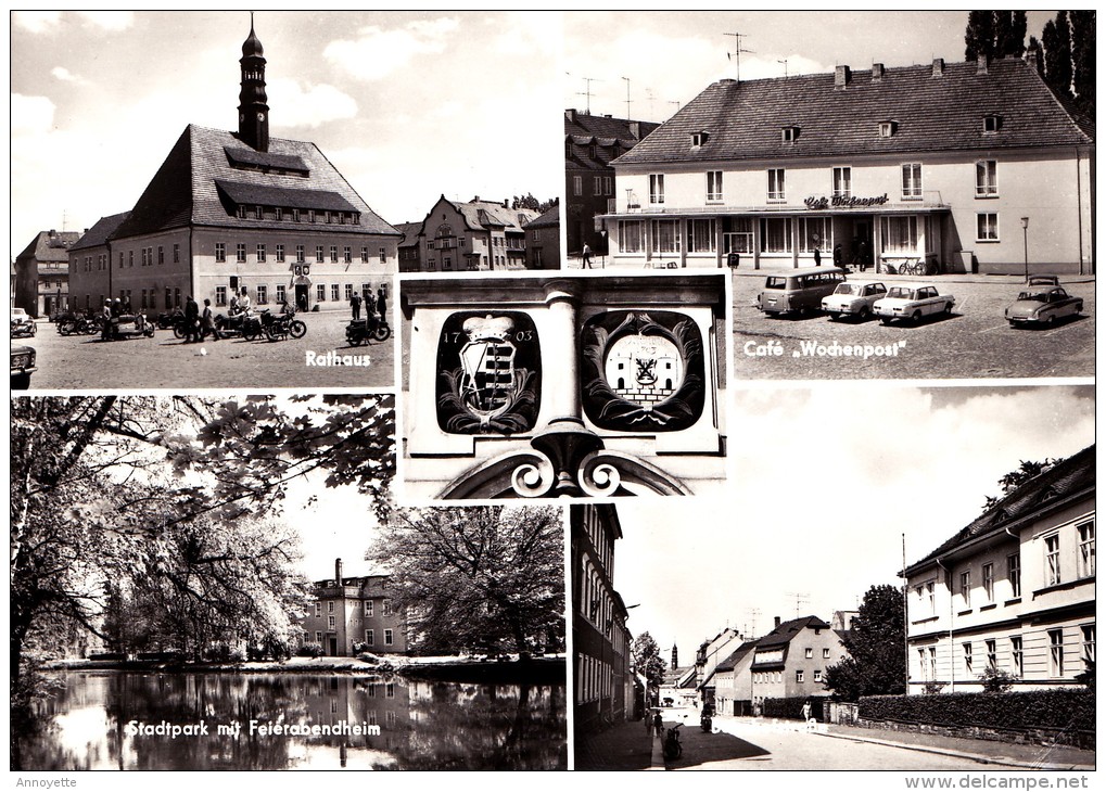
[[399,232],[315,144],[270,137],[265,59],[252,28],[240,64],[238,132],[185,129],[108,235],[107,269],[82,272],[77,306],[109,294],[165,311],[190,294],[219,308],[246,289],[254,305],[337,310],[355,291],[390,290]]

